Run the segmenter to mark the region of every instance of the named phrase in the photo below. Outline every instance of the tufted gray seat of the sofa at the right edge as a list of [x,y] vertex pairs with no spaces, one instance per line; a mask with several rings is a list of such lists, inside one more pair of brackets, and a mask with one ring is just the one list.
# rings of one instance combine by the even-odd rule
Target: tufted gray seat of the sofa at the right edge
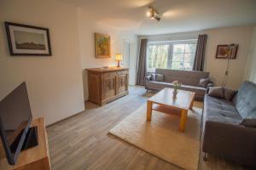
[[231,101],[205,96],[204,122],[226,122],[240,124],[242,118]]

